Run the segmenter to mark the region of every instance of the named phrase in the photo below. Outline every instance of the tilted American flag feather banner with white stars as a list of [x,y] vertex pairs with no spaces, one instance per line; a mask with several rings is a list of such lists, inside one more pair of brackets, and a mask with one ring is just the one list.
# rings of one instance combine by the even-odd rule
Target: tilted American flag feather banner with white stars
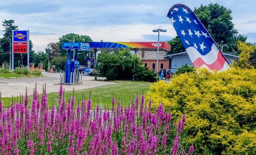
[[183,4],[176,4],[171,7],[167,17],[195,68],[205,67],[217,71],[229,68],[227,59],[192,10]]

